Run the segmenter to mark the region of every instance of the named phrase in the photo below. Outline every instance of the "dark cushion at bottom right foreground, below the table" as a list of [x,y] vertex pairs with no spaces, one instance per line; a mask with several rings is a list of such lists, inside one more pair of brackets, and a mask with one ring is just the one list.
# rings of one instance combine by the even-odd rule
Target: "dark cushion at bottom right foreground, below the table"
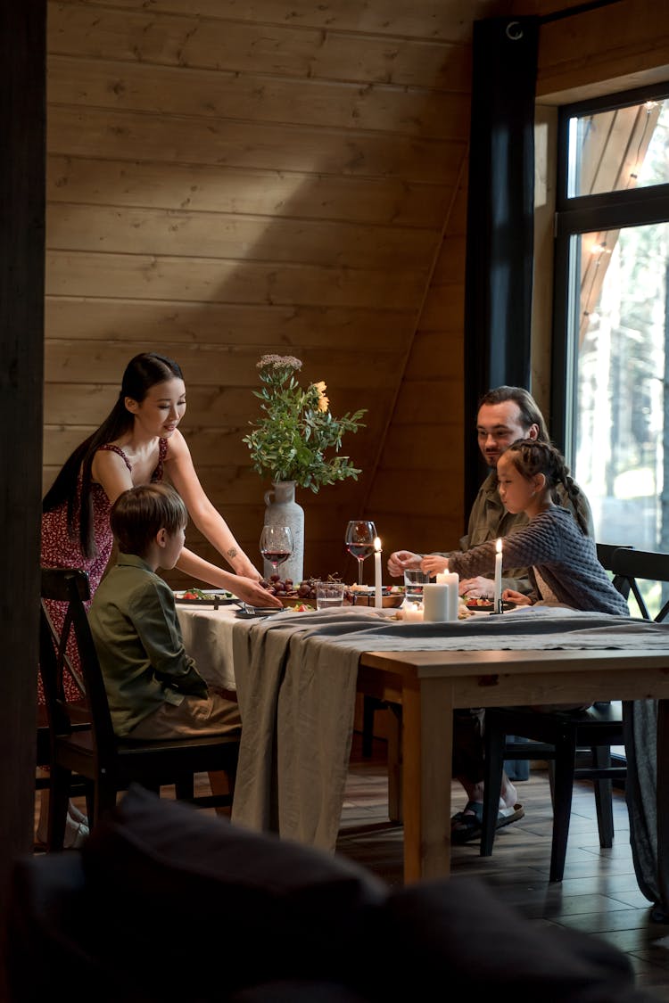
[[[453,999],[641,1003],[629,959],[589,934],[533,923],[482,882],[436,880],[394,892],[378,934],[411,964],[377,975],[381,998],[411,998],[416,972]],[[387,976],[385,986],[383,979]]]

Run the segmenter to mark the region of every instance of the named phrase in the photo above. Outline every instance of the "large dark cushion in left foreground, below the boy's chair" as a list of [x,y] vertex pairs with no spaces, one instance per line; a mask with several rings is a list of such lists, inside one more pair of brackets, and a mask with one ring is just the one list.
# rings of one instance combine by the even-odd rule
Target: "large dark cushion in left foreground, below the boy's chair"
[[343,858],[138,786],[81,854],[89,893],[103,904],[101,957],[161,1001],[215,989],[225,999],[267,980],[347,981],[367,917],[388,895]]

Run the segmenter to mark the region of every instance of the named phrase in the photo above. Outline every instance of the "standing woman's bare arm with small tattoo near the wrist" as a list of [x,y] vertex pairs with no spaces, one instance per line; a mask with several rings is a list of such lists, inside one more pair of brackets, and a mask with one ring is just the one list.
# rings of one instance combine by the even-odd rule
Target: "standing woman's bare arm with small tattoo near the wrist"
[[[165,468],[170,479],[184,498],[191,519],[203,536],[226,559],[231,568],[235,569],[236,574],[260,581],[262,575],[244,553],[223,516],[205,493],[193,464],[191,450],[179,431],[176,431],[170,439]],[[213,568],[214,565],[210,567]]]

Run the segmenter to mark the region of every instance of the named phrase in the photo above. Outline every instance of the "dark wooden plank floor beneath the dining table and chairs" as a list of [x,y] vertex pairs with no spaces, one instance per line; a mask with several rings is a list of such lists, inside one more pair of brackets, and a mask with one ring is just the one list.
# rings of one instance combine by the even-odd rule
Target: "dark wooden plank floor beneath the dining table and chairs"
[[[375,740],[372,758],[363,759],[360,737],[354,737],[337,850],[389,884],[401,885],[402,830],[388,821],[385,749],[384,741]],[[203,774],[203,792],[207,783]],[[454,847],[452,880],[476,876],[533,922],[571,927],[615,944],[629,955],[639,987],[652,999],[669,1001],[669,926],[651,921],[650,903],[639,891],[624,794],[614,794],[614,847],[601,850],[592,786],[577,785],[565,880],[550,885],[553,815],[547,774],[533,769],[530,780],[517,787],[525,817],[497,832],[492,857],[479,857],[477,844]],[[465,799],[454,783],[454,807],[462,807]]]

